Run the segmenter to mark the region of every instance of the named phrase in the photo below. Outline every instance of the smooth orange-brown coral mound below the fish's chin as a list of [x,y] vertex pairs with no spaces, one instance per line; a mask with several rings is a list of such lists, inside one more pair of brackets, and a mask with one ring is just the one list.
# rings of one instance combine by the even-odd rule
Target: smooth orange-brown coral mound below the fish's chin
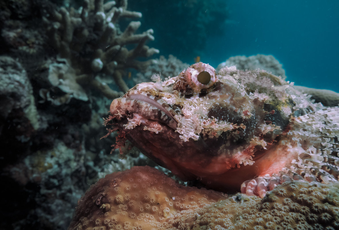
[[222,198],[222,193],[185,187],[154,168],[136,166],[91,186],[68,229],[162,229]]

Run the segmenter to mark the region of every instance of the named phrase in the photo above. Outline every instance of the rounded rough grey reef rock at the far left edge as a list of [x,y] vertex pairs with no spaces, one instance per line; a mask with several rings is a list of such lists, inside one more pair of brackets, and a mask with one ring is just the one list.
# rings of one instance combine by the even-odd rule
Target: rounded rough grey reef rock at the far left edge
[[22,65],[0,56],[0,143],[6,149],[1,164],[15,161],[26,152],[39,129],[33,88]]

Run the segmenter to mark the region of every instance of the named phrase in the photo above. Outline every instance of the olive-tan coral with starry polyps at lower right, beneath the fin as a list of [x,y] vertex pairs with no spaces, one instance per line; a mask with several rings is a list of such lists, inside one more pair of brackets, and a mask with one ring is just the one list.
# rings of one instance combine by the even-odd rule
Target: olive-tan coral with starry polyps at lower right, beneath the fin
[[338,184],[285,182],[263,199],[237,194],[182,217],[177,225],[183,224],[186,229],[338,229]]

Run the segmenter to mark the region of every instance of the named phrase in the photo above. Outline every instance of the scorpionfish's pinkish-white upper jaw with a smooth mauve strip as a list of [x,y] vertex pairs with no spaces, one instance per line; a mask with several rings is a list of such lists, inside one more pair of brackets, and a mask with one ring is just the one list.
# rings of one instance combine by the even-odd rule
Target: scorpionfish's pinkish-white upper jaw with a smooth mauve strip
[[166,125],[176,130],[177,116],[180,116],[180,113],[174,111],[166,101],[138,90],[129,91],[122,98],[114,99],[110,112],[120,122],[127,118],[128,122],[124,124],[126,129],[133,129],[135,124],[142,124],[145,129],[152,130],[157,123],[158,127]]

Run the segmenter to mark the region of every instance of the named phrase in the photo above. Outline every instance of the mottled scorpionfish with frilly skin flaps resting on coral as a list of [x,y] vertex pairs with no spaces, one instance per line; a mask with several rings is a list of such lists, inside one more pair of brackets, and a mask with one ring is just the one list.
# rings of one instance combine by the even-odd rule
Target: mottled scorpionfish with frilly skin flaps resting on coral
[[263,197],[286,180],[338,180],[338,107],[313,104],[280,77],[199,62],[113,100],[105,120],[183,180]]

